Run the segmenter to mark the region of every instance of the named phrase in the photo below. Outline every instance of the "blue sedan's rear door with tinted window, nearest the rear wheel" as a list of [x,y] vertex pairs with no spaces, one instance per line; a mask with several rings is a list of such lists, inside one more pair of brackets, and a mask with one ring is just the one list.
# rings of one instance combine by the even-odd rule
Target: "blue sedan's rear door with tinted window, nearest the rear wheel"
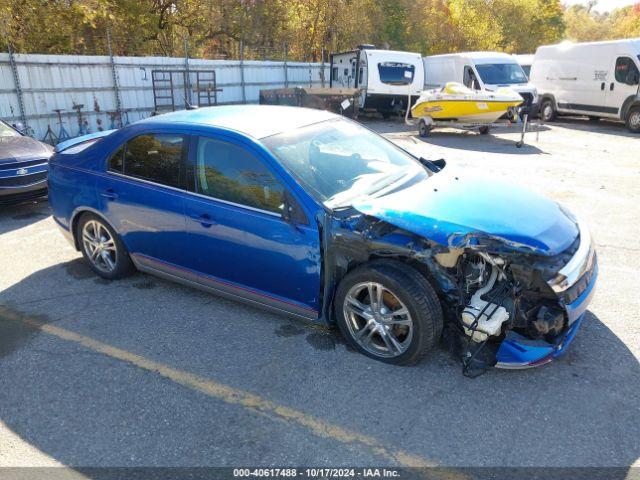
[[188,136],[145,133],[107,160],[97,180],[100,210],[136,259],[186,261],[184,218]]

